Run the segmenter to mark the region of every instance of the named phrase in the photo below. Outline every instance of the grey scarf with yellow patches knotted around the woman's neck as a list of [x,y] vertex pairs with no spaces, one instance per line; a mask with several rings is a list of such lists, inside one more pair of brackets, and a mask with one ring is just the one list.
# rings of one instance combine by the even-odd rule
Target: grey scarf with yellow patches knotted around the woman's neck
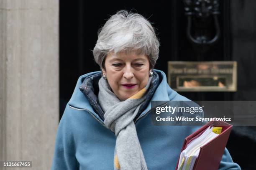
[[120,101],[115,96],[106,80],[101,78],[99,81],[98,99],[105,112],[104,123],[116,136],[115,170],[147,170],[133,119],[146,99],[146,92],[150,87],[151,79],[149,77],[146,87],[125,101]]

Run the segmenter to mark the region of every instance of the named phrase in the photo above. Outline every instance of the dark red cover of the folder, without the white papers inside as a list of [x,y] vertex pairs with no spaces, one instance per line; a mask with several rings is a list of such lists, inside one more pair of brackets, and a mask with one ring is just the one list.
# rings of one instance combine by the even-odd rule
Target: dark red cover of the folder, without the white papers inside
[[[186,137],[181,152],[186,149],[187,145],[197,137],[199,137],[207,127],[218,126],[222,127],[222,132],[206,145],[200,147],[200,152],[195,162],[193,170],[218,170],[220,160],[223,156],[228,137],[232,129],[232,125],[223,121],[210,121],[193,134]],[[178,169],[179,160],[175,170]]]

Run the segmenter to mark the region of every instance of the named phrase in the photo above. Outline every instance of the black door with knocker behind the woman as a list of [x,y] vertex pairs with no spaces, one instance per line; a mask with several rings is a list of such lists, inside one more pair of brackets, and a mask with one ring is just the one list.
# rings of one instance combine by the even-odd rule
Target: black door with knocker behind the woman
[[[167,74],[168,61],[237,61],[236,92],[179,92],[191,100],[256,100],[256,1],[253,0],[172,0],[169,2],[90,2],[60,1],[60,115],[70,99],[78,77],[100,70],[92,49],[97,30],[109,15],[126,9],[140,13],[153,22],[160,40],[156,69]],[[218,30],[212,13],[217,11],[218,40],[209,46],[191,43],[187,36],[187,13],[193,11],[206,19],[192,18],[191,34],[197,39],[213,39]],[[200,18],[200,17],[199,17]],[[256,128],[234,127],[227,148],[243,170],[256,169]]]

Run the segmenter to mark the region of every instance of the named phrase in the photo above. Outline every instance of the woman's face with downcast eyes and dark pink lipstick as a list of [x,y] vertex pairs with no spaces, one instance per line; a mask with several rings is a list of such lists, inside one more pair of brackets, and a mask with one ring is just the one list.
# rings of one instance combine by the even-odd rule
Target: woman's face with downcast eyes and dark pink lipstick
[[148,57],[135,51],[116,55],[110,53],[105,58],[105,69],[102,71],[113,93],[124,101],[146,86],[150,71]]

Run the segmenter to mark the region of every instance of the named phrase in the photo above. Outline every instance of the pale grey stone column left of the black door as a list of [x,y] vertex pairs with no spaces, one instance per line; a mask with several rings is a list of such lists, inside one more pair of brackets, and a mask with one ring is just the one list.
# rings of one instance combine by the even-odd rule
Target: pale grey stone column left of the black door
[[0,0],[0,160],[50,169],[58,123],[59,0]]

